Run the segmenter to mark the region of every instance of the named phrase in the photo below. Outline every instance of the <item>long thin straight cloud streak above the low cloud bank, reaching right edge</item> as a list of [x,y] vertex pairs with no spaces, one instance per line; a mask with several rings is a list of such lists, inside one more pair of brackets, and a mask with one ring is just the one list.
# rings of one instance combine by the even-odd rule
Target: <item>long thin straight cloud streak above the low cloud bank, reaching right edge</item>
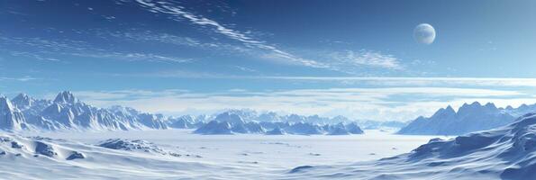
[[[244,71],[256,71],[248,67],[236,66]],[[240,76],[188,70],[146,72],[118,76],[175,77],[175,78],[215,78],[215,79],[273,79],[338,83],[343,85],[375,86],[495,86],[495,87],[536,87],[536,78],[501,77],[420,77],[420,76]]]

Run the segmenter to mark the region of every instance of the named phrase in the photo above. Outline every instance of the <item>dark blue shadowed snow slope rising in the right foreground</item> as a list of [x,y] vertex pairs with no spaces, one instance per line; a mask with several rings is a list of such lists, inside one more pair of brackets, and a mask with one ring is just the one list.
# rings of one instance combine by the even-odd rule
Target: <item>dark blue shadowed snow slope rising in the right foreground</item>
[[287,179],[536,179],[536,115],[454,139],[431,139],[411,153],[338,166],[298,166]]

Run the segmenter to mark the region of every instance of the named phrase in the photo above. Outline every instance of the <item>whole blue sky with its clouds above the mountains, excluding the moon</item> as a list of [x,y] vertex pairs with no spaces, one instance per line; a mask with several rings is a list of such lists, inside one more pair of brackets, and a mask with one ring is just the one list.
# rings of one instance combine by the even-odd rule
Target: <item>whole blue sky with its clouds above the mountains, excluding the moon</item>
[[[0,88],[166,114],[407,121],[536,103],[534,1],[0,2]],[[413,40],[430,23],[436,40]]]

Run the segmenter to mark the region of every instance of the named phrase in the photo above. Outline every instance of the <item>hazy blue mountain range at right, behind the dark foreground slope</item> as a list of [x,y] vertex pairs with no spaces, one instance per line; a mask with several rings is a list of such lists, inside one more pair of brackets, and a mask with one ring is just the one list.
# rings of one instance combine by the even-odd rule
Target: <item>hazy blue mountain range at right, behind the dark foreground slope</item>
[[490,130],[511,123],[520,114],[536,112],[536,104],[519,108],[497,108],[494,103],[464,103],[455,112],[452,107],[441,108],[431,117],[411,121],[399,134],[459,135],[478,130]]

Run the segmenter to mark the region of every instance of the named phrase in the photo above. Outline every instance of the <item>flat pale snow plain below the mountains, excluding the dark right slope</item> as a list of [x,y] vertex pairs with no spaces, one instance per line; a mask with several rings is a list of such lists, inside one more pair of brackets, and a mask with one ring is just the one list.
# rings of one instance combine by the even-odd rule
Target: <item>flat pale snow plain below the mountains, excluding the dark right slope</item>
[[[0,158],[9,158],[0,161],[3,178],[284,179],[290,177],[289,171],[296,166],[348,165],[393,157],[434,138],[392,135],[379,130],[347,136],[197,135],[191,130],[71,131],[23,136],[51,139],[11,136],[25,142],[22,144],[26,148],[20,153],[10,152],[11,147],[0,147],[0,152],[7,151]],[[145,141],[125,140],[134,144],[130,148],[97,146],[109,145],[117,139]],[[39,153],[32,144],[43,140],[60,153],[34,157]],[[85,158],[66,160],[72,150]]]

